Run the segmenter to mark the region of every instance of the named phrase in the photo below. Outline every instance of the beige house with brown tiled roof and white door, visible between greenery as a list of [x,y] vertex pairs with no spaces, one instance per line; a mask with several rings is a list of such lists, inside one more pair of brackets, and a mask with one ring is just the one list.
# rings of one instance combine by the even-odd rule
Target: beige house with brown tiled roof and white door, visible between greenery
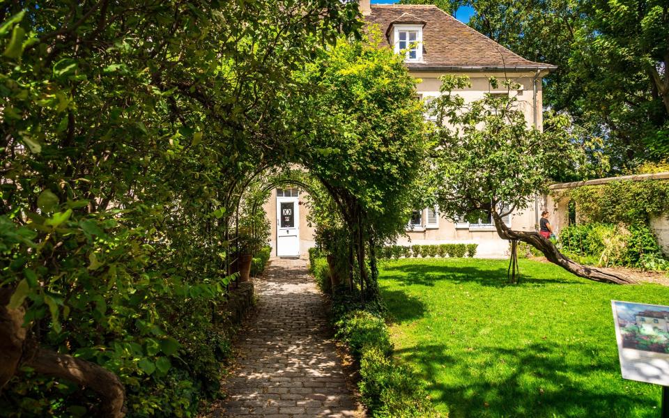
[[[421,80],[417,93],[425,102],[439,95],[440,76],[459,74],[470,77],[472,86],[459,91],[467,101],[484,98],[484,93],[507,95],[507,88],[492,88],[490,77],[513,79],[520,85],[518,107],[528,125],[541,129],[541,79],[553,65],[528,61],[482,35],[432,5],[370,4],[360,1],[365,21],[383,35],[381,47],[405,55],[411,75]],[[429,117],[429,116],[426,116]],[[275,189],[264,206],[272,224],[273,255],[304,256],[314,246],[314,230],[307,224],[307,208],[298,189]],[[516,210],[507,224],[521,231],[535,231],[539,223],[539,201],[530,208]],[[498,237],[490,215],[476,223],[450,222],[435,208],[415,210],[407,225],[413,244],[448,242],[477,243],[479,256],[505,256],[508,242]]]

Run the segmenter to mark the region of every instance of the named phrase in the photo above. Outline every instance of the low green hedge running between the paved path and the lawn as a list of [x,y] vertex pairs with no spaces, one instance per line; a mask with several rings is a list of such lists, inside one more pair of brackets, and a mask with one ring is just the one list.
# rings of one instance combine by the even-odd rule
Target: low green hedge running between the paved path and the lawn
[[[403,250],[404,251],[404,250]],[[330,283],[328,262],[309,251],[316,282]],[[437,417],[418,376],[393,357],[390,332],[379,303],[362,304],[360,293],[342,286],[334,292],[330,311],[337,339],[348,345],[360,364],[362,403],[373,418]]]

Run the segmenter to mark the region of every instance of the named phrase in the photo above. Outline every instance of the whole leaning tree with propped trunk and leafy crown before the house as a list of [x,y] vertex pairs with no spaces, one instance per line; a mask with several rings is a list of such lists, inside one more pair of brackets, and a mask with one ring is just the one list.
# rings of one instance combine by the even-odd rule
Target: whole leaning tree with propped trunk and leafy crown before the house
[[[504,82],[509,93],[513,83]],[[495,86],[497,80],[491,79]],[[578,148],[569,134],[569,121],[553,115],[541,132],[528,127],[513,96],[486,94],[466,104],[453,93],[466,88],[464,76],[443,76],[441,95],[431,111],[440,121],[433,132],[438,146],[431,160],[432,180],[440,211],[452,219],[480,217],[491,212],[500,238],[526,242],[548,261],[580,277],[609,283],[629,279],[579,265],[560,254],[555,245],[537,232],[513,231],[502,220],[516,209],[528,208],[537,192],[546,191],[546,180],[564,164],[578,160]],[[517,88],[517,86],[516,86]]]

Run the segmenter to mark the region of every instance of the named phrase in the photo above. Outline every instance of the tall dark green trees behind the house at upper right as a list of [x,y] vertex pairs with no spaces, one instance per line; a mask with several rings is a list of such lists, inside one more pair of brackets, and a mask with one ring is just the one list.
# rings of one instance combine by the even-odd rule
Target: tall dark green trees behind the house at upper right
[[565,112],[603,177],[669,153],[669,13],[661,0],[402,0],[454,13],[471,6],[469,26],[531,61],[557,65],[544,77],[544,106]]

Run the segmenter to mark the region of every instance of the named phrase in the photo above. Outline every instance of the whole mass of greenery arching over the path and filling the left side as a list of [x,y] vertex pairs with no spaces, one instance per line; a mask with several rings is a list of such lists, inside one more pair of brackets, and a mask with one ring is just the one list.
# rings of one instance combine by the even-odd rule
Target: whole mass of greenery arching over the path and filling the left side
[[401,60],[337,41],[357,17],[338,0],[0,6],[0,409],[174,417],[217,396],[226,231],[259,167],[325,180],[367,274],[424,141]]

